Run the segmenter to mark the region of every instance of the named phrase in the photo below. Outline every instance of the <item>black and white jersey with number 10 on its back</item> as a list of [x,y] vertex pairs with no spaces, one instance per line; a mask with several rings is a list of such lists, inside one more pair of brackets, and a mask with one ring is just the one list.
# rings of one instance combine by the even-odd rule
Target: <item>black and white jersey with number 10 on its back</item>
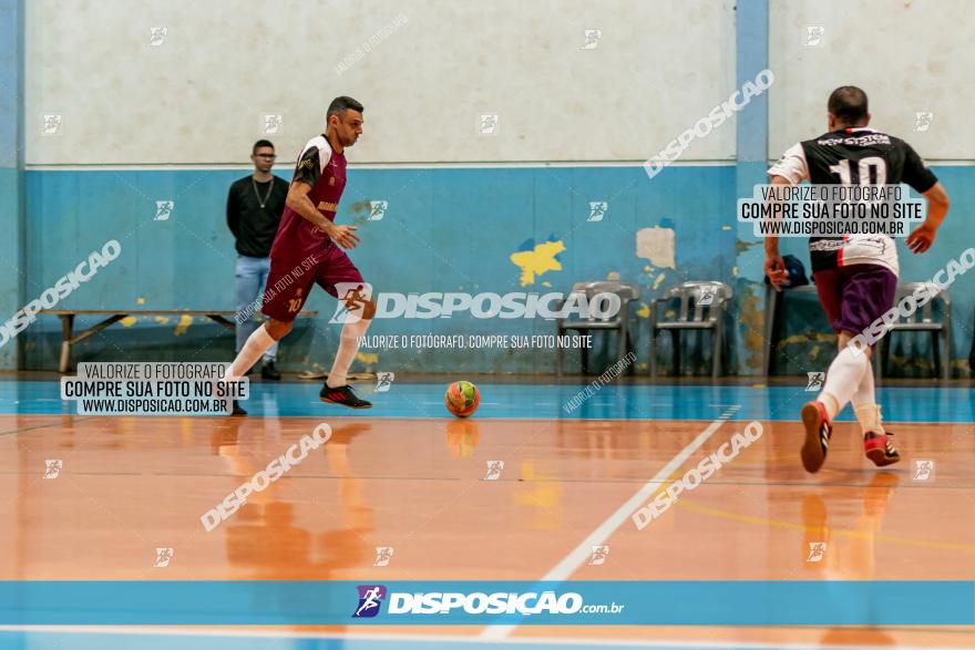
[[[925,193],[937,183],[921,156],[899,137],[872,128],[842,128],[791,146],[769,168],[792,185],[899,185]],[[899,272],[897,249],[886,235],[812,237],[812,270],[874,264]]]

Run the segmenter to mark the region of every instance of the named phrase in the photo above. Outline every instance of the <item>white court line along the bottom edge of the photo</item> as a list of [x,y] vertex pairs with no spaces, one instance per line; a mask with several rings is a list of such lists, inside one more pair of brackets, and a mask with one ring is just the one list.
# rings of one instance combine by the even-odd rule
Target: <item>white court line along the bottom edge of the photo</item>
[[[557,637],[524,637],[517,640],[505,639],[478,639],[473,637],[461,637],[458,634],[349,634],[336,632],[296,632],[290,630],[270,631],[270,630],[213,630],[213,629],[181,629],[181,628],[154,628],[138,626],[0,626],[0,632],[44,632],[44,633],[68,633],[68,634],[144,634],[158,637],[224,637],[224,638],[256,638],[256,639],[335,639],[352,642],[362,641],[413,641],[429,643],[458,643],[458,644],[476,644],[483,647],[485,644],[511,644],[520,643],[524,646],[579,646],[579,647],[624,647],[624,648],[708,648],[715,650],[735,650],[735,649],[761,649],[761,650],[821,650],[823,646],[819,643],[790,643],[790,642],[766,642],[753,641],[747,642],[741,640],[733,641],[646,641],[637,639],[562,639]],[[890,650],[892,646],[829,646],[829,650]],[[932,650],[933,646],[927,647],[910,647],[897,646],[897,650]],[[938,650],[971,650],[958,647],[940,646]]]

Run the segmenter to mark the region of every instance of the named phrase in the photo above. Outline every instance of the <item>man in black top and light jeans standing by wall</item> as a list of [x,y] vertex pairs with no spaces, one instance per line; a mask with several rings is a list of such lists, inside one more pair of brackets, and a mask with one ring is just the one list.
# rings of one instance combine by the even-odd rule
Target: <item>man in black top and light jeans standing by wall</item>
[[[270,245],[278,231],[285,209],[288,183],[270,173],[275,162],[274,145],[259,140],[254,143],[250,159],[254,174],[230,185],[227,196],[227,226],[237,239],[237,352],[247,341],[260,318],[264,286],[270,268]],[[281,379],[275,368],[277,343],[264,355],[260,376]]]

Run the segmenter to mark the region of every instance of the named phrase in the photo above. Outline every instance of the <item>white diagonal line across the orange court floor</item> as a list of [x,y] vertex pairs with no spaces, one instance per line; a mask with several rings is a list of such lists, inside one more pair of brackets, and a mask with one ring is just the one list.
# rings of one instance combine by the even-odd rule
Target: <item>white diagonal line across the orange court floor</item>
[[[605,522],[596,526],[596,529],[589,533],[588,537],[582,540],[561,563],[552,567],[552,569],[543,576],[540,581],[562,582],[567,580],[593,554],[593,547],[605,544],[613,533],[623,525],[624,522],[633,516],[638,507],[644,505],[656,491],[660,488],[660,483],[674,474],[690,455],[705,444],[711,435],[725,422],[728,421],[736,412],[741,409],[739,404],[728,406],[707,429],[700,432],[696,439],[690,441],[686,447],[670,458],[670,462],[664,465],[653,478],[647,481],[636,494],[627,499],[616,512],[609,515]],[[504,639],[509,637],[517,626],[489,626],[481,632],[482,639]]]

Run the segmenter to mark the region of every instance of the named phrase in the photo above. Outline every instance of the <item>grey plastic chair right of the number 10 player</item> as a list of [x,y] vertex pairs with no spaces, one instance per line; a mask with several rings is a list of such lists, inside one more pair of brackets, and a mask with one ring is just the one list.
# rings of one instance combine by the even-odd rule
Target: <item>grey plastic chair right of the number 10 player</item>
[[[891,334],[896,331],[901,332],[931,332],[931,350],[934,355],[934,376],[941,375],[943,379],[952,378],[952,299],[947,289],[938,289],[933,282],[904,282],[897,285],[896,298],[894,305],[900,305],[901,300],[906,296],[911,296],[914,291],[924,285],[927,285],[928,292],[932,296],[924,307],[917,309],[906,319],[893,322],[890,331],[878,342],[875,352],[879,354],[880,362],[874,367],[874,374],[880,379],[886,374],[891,355]],[[936,295],[935,295],[936,293]],[[932,318],[932,303],[940,301],[942,307],[942,320],[935,321]],[[944,363],[942,363],[941,341],[944,340],[945,354]]]

